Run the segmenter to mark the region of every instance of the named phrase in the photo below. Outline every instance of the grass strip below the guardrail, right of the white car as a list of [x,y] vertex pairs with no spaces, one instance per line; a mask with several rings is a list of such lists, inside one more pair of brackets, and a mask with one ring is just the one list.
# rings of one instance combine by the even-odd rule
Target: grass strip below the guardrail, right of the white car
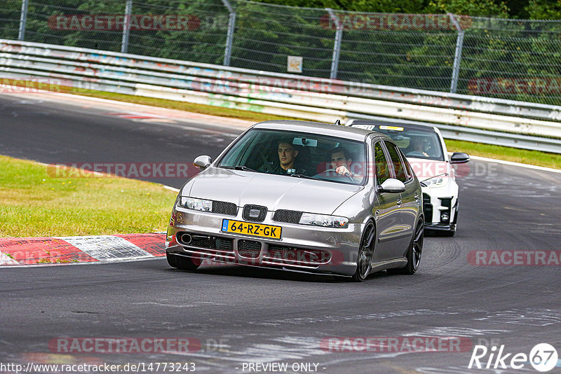
[[526,149],[493,146],[490,144],[451,139],[446,140],[446,146],[450,152],[465,152],[469,155],[561,169],[561,155],[557,155],[556,153],[529,151]]

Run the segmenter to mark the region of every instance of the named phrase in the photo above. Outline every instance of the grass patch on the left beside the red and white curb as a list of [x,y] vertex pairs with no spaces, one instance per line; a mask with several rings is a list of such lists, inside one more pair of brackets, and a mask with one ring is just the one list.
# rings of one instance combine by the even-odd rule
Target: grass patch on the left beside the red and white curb
[[36,162],[0,155],[0,237],[154,233],[167,228],[177,193],[160,184],[49,174]]

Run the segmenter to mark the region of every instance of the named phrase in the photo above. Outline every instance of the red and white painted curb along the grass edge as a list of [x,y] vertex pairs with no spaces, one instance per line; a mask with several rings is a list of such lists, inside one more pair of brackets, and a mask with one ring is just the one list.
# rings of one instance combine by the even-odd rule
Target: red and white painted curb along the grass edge
[[95,263],[165,256],[165,234],[0,238],[0,266]]

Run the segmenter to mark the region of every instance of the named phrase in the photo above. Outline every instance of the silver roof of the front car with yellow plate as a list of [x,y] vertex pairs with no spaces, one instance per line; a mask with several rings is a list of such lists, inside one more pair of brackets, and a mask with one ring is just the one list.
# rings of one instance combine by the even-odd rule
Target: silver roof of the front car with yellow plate
[[339,126],[332,123],[310,122],[306,120],[266,120],[252,126],[256,129],[287,130],[294,132],[313,132],[314,134],[344,137],[346,139],[365,141],[369,134],[386,137],[374,130],[360,129],[358,127]]

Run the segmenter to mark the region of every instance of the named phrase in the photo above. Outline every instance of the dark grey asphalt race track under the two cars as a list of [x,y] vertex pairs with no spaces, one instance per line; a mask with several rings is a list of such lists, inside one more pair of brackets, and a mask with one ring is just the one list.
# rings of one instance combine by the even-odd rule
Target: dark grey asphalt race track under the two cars
[[[191,162],[216,156],[243,127],[139,122],[109,115],[101,104],[65,101],[0,96],[0,154],[47,163]],[[560,266],[472,265],[468,254],[559,251],[561,174],[468,165],[458,179],[459,231],[426,238],[413,276],[381,272],[355,284],[229,266],[183,272],[165,259],[0,269],[0,361],[194,362],[207,373],[255,373],[247,363],[257,362],[288,363],[289,373],[304,372],[292,371],[292,363],[317,363],[318,373],[538,373],[529,363],[522,370],[468,363],[478,344],[529,354],[548,342],[561,354]],[[419,336],[464,337],[470,345],[463,352],[337,352],[320,345],[330,337]],[[201,349],[68,354],[49,347],[57,338],[194,338]],[[561,373],[561,364],[551,373]]]

